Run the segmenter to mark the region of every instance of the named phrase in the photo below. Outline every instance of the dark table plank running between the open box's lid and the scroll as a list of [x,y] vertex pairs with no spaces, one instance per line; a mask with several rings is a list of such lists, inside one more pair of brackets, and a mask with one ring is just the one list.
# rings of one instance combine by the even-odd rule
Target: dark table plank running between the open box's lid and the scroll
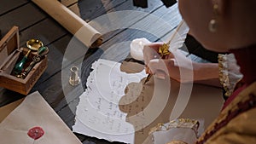
[[15,9],[0,17],[0,28],[3,34],[9,32],[12,26],[19,26],[20,31],[32,26],[45,18],[45,14],[32,3],[26,3],[19,9]]

